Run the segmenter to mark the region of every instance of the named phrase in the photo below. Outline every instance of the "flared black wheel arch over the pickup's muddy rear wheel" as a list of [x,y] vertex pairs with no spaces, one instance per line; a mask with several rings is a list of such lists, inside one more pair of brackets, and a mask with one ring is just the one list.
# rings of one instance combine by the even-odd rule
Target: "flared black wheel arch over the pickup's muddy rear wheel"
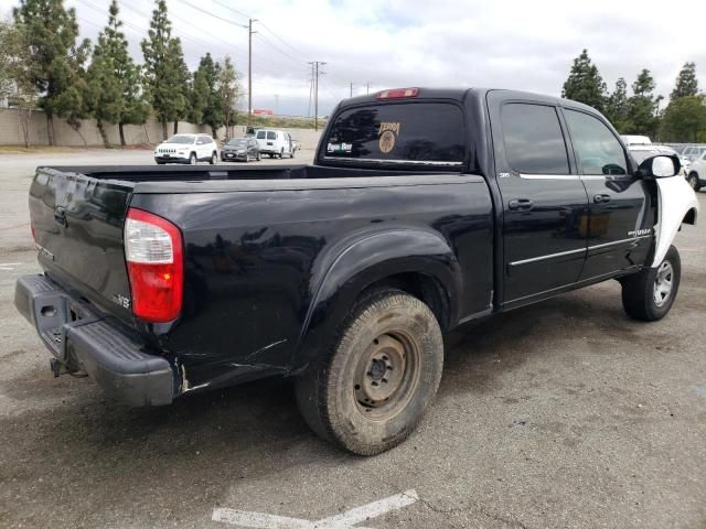
[[325,354],[355,299],[385,278],[416,272],[435,279],[446,291],[449,322],[458,320],[460,266],[447,241],[434,233],[402,229],[367,236],[340,251],[324,270],[311,285],[313,299],[295,350],[293,371]]

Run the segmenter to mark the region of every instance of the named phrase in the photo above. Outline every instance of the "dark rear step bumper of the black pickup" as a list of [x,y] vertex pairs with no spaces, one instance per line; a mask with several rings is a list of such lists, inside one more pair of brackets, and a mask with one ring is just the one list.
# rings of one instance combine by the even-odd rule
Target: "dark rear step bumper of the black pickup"
[[14,306],[65,369],[86,371],[110,397],[129,406],[174,399],[176,369],[167,358],[145,353],[137,333],[96,314],[46,276],[21,277]]

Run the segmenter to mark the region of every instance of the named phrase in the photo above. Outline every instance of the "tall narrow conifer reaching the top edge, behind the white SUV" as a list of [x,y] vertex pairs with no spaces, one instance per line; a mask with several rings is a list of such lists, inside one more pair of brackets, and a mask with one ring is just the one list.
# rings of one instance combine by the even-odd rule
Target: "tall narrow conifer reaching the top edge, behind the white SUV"
[[162,123],[162,136],[167,139],[167,122],[174,121],[186,111],[185,63],[179,39],[171,36],[172,24],[167,17],[167,2],[157,0],[148,39],[142,41],[145,55],[145,84],[147,95]]

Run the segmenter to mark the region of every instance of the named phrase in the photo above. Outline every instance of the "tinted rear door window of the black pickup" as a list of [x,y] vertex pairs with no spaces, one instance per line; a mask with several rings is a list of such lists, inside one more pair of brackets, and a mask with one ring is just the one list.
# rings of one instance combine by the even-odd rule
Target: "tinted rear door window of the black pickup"
[[554,107],[511,102],[501,111],[505,156],[518,173],[569,174],[559,117]]

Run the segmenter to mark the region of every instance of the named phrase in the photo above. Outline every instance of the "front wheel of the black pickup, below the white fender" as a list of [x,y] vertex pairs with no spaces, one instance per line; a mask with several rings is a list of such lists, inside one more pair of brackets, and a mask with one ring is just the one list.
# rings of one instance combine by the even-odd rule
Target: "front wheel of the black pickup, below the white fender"
[[662,263],[622,280],[622,306],[630,317],[643,322],[662,320],[672,309],[682,278],[682,260],[670,247]]

